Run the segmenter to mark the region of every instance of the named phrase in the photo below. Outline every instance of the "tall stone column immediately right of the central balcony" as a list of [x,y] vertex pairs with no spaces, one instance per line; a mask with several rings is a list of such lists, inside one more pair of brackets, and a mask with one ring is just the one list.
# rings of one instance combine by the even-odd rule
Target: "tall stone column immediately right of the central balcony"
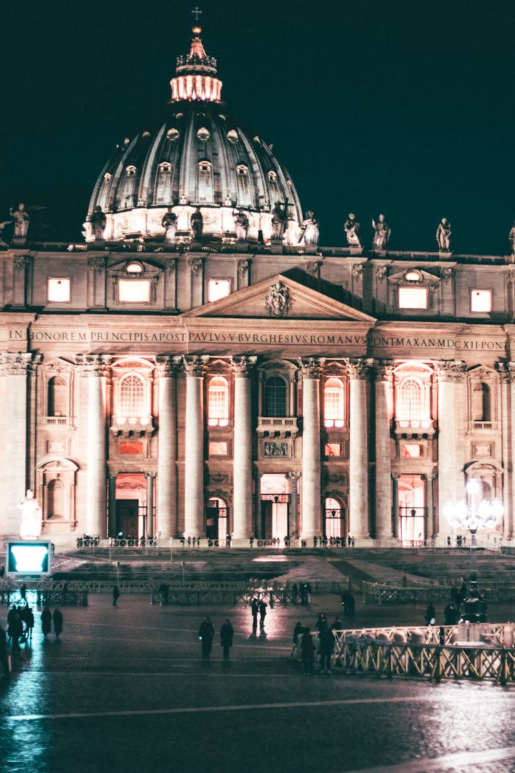
[[320,534],[320,366],[324,359],[299,359],[302,371],[302,529],[307,540]]

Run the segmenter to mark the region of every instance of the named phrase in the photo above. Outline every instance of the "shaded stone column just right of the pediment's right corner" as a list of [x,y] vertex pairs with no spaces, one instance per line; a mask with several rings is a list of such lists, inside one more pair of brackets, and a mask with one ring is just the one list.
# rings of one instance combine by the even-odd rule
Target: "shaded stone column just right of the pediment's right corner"
[[[391,539],[391,382],[393,368],[376,363],[375,372],[375,536]],[[351,417],[352,417],[351,411]]]

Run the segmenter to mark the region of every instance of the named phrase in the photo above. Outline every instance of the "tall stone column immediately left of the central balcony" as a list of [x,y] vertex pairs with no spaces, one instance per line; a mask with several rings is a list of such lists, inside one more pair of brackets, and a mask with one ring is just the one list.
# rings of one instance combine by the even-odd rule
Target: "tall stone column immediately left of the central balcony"
[[250,373],[257,357],[231,357],[234,373],[232,523],[234,540],[252,534],[252,400]]

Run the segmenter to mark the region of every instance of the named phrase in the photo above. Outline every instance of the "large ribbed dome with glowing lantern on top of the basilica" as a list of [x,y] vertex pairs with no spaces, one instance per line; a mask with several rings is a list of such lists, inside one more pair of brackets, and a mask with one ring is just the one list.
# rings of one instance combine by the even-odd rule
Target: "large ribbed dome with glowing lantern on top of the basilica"
[[106,240],[164,239],[169,208],[185,240],[195,211],[202,213],[203,237],[211,240],[231,234],[235,210],[242,209],[249,241],[266,241],[280,203],[287,213],[281,238],[296,243],[302,209],[290,175],[271,146],[229,114],[216,60],[205,53],[200,27],[193,32],[170,82],[168,120],[153,134],[125,138],[100,173],[84,223],[86,241],[95,240],[92,219],[100,211]]

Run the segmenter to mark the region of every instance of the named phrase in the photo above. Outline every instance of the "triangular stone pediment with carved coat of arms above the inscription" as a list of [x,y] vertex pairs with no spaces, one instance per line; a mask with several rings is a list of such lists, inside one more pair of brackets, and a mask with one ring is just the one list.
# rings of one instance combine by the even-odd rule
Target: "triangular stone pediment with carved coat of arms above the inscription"
[[[321,284],[321,283],[320,283]],[[341,292],[341,288],[327,284]],[[206,303],[185,312],[182,317],[282,319],[334,319],[353,322],[376,322],[364,312],[353,308],[332,295],[303,284],[287,274],[276,274],[264,281],[238,290],[218,301]]]

